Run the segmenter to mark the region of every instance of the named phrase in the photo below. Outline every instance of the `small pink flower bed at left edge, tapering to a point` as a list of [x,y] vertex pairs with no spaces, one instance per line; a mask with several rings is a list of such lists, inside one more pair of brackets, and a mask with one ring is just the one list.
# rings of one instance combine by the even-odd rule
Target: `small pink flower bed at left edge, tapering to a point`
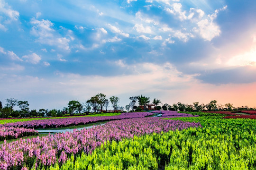
[[24,127],[0,127],[0,141],[33,135],[38,135],[38,132],[34,129],[27,129]]

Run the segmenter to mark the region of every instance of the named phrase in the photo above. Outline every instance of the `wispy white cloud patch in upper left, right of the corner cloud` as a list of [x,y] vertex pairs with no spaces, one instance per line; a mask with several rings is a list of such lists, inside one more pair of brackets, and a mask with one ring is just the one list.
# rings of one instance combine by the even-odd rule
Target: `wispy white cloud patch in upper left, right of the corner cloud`
[[69,38],[62,37],[52,28],[53,23],[49,20],[42,19],[39,21],[32,18],[30,23],[34,25],[30,33],[38,37],[36,42],[57,46],[65,51],[70,51],[69,42],[73,40],[72,36],[70,35],[72,34],[71,32],[66,34],[66,36]]

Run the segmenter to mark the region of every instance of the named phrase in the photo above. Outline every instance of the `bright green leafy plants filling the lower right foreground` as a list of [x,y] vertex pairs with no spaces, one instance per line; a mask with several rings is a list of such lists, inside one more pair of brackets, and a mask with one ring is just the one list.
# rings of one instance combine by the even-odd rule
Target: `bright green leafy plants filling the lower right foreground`
[[201,122],[162,134],[107,142],[51,170],[255,170],[256,120],[180,118]]

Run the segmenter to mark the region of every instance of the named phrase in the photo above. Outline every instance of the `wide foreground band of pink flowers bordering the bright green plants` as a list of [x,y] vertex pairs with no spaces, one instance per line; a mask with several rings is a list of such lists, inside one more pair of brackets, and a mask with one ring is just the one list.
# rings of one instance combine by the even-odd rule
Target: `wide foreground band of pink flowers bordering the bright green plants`
[[[115,120],[91,129],[74,130],[73,133],[59,133],[41,138],[20,139],[4,143],[0,148],[0,169],[21,169],[25,166],[37,169],[38,166],[60,165],[71,155],[75,157],[91,153],[96,147],[109,141],[120,141],[144,134],[161,133],[169,130],[182,130],[188,127],[201,127],[200,123],[167,120],[160,118],[138,118]],[[24,168],[25,169],[25,168]]]

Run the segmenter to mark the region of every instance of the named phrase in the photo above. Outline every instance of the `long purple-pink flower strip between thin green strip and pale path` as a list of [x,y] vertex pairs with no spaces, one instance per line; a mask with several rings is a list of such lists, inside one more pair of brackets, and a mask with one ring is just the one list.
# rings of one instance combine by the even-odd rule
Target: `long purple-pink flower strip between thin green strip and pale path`
[[122,113],[118,116],[101,116],[101,117],[75,117],[64,119],[44,119],[44,120],[32,120],[25,122],[15,122],[1,124],[0,127],[25,127],[25,128],[55,128],[55,127],[68,127],[85,125],[89,123],[96,123],[99,121],[110,121],[119,119],[132,119],[132,118],[144,118],[146,116],[153,115],[149,112],[132,112]]

